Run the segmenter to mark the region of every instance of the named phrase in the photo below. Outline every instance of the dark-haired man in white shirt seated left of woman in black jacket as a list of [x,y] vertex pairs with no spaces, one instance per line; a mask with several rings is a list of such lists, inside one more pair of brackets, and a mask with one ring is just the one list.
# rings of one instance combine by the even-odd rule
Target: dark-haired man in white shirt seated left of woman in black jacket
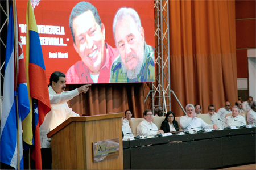
[[140,136],[164,134],[163,130],[158,130],[158,127],[152,122],[153,113],[150,109],[143,112],[143,117],[144,120],[137,126],[137,133]]

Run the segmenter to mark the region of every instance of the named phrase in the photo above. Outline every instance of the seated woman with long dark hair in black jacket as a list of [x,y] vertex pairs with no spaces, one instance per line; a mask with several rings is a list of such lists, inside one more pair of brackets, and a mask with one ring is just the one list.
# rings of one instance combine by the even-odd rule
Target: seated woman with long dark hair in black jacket
[[164,131],[164,133],[179,131],[179,124],[175,120],[174,112],[167,112],[166,118],[162,122],[161,129]]

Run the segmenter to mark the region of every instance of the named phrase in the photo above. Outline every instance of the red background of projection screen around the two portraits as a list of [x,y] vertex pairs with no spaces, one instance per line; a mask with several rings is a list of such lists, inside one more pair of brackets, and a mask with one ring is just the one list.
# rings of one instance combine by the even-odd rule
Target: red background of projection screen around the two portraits
[[[71,14],[72,8],[79,2],[81,2],[81,0],[31,0],[32,6],[34,7],[36,23],[38,24],[38,31],[42,45],[44,63],[46,66],[47,79],[49,79],[49,76],[53,73],[53,71],[61,71],[64,74],[66,74],[68,69],[72,65],[74,65],[77,61],[81,60],[81,57],[76,52],[73,46],[73,39],[71,31],[69,29],[69,16]],[[154,47],[155,38],[153,0],[94,0],[87,2],[91,3],[94,7],[97,8],[98,14],[101,19],[101,23],[103,23],[105,26],[105,42],[107,42],[108,45],[115,48],[115,42],[112,31],[115,13],[121,7],[128,7],[133,8],[135,11],[138,12],[139,17],[141,19],[142,27],[144,28],[145,42],[148,45]],[[23,52],[25,52],[27,5],[23,1],[16,1],[16,4],[17,13],[19,17],[19,28],[21,29]],[[112,59],[110,59],[109,61],[113,62],[117,56],[118,51],[117,54],[113,54],[113,56],[111,56]],[[92,58],[93,57],[91,57],[90,59]],[[109,74],[106,74],[104,76],[107,76],[106,80],[98,80],[99,83],[109,82]],[[104,77],[102,79],[104,79]],[[67,80],[67,83],[72,84],[91,83],[86,82],[86,80],[82,82],[75,82],[77,83],[72,83],[69,80]],[[148,82],[154,82],[154,80],[149,80]]]

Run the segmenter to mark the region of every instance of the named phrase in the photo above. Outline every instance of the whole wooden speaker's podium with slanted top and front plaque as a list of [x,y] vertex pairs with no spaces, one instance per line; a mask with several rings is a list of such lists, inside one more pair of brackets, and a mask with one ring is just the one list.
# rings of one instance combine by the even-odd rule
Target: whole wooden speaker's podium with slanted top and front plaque
[[50,131],[52,169],[123,169],[121,117],[70,117]]

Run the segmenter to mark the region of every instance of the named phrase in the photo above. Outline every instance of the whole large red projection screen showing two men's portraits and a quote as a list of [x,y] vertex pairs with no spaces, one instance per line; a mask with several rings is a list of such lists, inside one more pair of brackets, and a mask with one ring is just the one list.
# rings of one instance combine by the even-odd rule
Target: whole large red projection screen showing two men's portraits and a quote
[[[155,82],[154,0],[31,3],[47,80],[61,71],[67,84]],[[27,3],[16,1],[16,7],[26,55]]]

